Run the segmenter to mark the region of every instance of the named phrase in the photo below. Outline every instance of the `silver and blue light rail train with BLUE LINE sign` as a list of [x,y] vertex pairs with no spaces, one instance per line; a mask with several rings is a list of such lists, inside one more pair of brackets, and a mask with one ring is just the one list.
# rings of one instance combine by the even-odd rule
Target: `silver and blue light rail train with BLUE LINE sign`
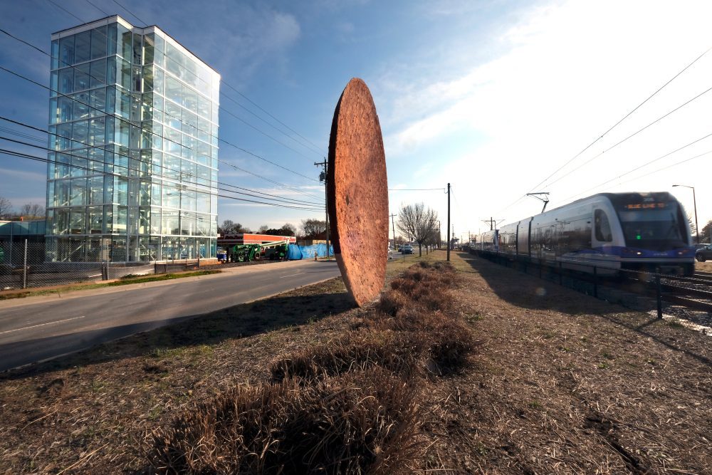
[[668,192],[595,194],[486,231],[475,249],[600,275],[694,273],[690,226]]

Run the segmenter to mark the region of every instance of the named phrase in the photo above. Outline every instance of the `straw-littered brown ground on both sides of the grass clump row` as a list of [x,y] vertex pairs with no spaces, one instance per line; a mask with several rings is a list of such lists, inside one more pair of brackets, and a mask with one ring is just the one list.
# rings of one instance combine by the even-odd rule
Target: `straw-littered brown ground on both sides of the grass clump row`
[[[460,374],[422,383],[424,473],[709,473],[709,337],[452,260],[453,311],[478,345]],[[0,472],[145,471],[148,431],[365,311],[335,279],[0,375]]]

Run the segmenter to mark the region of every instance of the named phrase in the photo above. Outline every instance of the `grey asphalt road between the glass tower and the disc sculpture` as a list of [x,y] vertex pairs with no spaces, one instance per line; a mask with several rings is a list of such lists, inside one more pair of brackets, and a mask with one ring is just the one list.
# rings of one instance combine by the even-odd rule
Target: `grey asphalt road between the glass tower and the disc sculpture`
[[339,275],[335,261],[289,261],[0,302],[0,371]]

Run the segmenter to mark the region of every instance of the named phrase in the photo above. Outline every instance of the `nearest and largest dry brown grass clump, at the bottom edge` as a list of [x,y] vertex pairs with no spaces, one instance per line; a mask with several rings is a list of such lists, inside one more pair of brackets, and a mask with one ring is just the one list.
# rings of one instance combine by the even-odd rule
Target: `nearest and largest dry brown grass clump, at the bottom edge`
[[159,473],[406,471],[419,451],[414,391],[384,370],[241,385],[152,433]]

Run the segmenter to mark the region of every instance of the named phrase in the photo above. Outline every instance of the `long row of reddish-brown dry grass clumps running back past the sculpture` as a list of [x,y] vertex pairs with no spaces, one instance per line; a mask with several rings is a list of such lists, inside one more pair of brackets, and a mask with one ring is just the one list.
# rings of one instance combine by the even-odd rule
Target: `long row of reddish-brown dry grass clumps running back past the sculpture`
[[[239,386],[153,431],[159,472],[389,474],[410,471],[426,370],[461,367],[470,331],[446,316],[454,268],[423,263],[392,281],[407,298],[382,305],[328,343],[280,357],[278,382]],[[418,318],[414,318],[417,316]]]

